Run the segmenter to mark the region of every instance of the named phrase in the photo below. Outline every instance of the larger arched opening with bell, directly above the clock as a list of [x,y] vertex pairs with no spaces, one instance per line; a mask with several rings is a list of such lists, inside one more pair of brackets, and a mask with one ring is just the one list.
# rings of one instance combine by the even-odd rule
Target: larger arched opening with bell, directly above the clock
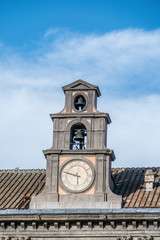
[[76,123],[71,127],[70,149],[86,149],[87,129],[84,124]]

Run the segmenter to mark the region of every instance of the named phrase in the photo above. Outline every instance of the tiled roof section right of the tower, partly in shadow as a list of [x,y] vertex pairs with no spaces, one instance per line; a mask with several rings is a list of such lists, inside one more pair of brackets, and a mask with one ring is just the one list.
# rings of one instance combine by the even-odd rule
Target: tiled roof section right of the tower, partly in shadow
[[124,208],[160,208],[160,168],[152,168],[155,181],[152,191],[144,183],[148,168],[114,168],[114,193],[123,197]]

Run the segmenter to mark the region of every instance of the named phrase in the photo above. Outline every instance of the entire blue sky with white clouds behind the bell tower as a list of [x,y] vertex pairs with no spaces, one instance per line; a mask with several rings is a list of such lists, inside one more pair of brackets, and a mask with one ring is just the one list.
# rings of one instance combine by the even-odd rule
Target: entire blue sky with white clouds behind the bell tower
[[98,85],[113,167],[160,166],[160,1],[0,0],[2,169],[45,168],[62,86]]

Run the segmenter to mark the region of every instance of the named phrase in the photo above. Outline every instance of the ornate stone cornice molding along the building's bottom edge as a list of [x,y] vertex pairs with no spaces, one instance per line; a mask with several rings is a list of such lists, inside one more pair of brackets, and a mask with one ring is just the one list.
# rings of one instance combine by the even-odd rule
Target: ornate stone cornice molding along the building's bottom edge
[[0,215],[0,240],[158,240],[159,236],[158,214]]

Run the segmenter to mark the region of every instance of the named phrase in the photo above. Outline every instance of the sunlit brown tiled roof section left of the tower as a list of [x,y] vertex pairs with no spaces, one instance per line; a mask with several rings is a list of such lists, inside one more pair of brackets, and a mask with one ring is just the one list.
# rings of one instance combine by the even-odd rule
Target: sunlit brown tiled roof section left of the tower
[[31,196],[37,195],[45,185],[46,171],[1,170],[0,209],[28,208]]

